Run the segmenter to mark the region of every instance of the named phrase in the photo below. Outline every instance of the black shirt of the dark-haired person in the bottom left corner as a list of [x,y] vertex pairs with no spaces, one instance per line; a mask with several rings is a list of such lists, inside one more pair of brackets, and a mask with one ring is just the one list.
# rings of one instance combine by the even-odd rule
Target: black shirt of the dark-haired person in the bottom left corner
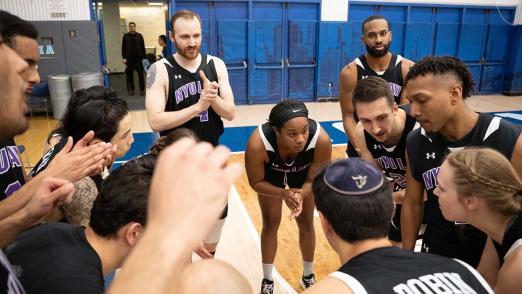
[[27,293],[103,293],[101,260],[85,228],[48,223],[22,233],[6,249]]

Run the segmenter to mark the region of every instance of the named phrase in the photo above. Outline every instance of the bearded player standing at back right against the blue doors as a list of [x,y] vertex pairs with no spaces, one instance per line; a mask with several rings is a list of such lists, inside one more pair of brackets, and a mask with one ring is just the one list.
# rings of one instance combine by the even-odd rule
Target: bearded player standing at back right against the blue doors
[[369,76],[379,76],[390,83],[395,102],[406,103],[402,94],[403,81],[413,65],[412,61],[401,55],[389,52],[392,33],[384,17],[373,15],[366,18],[362,24],[362,33],[361,41],[366,46],[366,54],[346,65],[339,75],[339,102],[344,131],[350,139],[346,150],[350,157],[358,156],[356,149],[363,146],[363,142],[355,135],[357,116],[351,97],[357,81]]

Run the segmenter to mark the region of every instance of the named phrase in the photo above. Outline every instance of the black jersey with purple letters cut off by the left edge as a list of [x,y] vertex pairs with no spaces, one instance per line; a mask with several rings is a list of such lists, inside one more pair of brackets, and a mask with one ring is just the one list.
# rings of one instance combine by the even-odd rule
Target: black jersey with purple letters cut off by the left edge
[[0,141],[0,201],[25,184],[23,168],[14,139]]

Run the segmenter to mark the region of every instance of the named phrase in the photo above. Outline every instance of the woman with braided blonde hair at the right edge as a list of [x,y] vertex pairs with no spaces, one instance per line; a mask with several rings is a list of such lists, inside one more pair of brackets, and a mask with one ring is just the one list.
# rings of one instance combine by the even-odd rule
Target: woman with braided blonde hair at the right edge
[[478,271],[495,293],[520,291],[522,181],[509,160],[493,149],[462,149],[448,155],[437,181],[444,218],[488,235]]

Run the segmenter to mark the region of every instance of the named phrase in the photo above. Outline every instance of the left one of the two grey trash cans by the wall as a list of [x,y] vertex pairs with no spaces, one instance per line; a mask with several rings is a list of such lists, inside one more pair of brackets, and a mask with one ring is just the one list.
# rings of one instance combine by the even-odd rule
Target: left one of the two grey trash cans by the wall
[[51,94],[51,106],[53,117],[62,119],[65,108],[71,99],[71,76],[69,75],[48,75],[49,92]]

